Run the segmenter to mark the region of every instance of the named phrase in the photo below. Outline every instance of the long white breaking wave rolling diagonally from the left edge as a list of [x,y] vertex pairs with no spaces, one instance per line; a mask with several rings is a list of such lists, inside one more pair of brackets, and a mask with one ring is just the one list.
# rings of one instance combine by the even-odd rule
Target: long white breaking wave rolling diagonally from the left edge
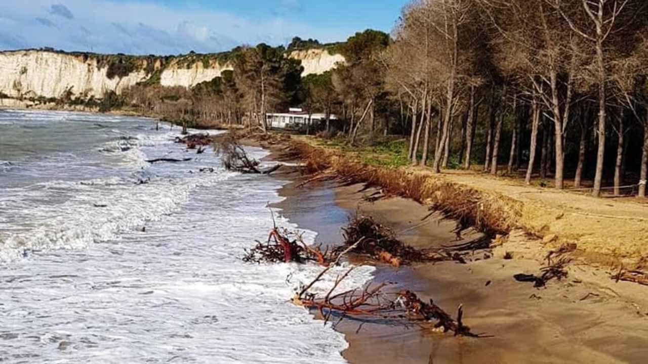
[[[32,203],[23,214],[32,222],[43,222],[25,234],[12,234],[0,242],[0,262],[15,260],[29,251],[82,249],[89,244],[118,240],[119,233],[141,227],[172,212],[189,199],[199,186],[214,185],[235,174],[228,172],[159,180],[146,185],[124,184],[119,179],[82,182],[51,181],[46,188],[61,188],[75,196],[62,205]],[[101,186],[103,188],[92,188]],[[70,191],[77,188],[76,192]],[[78,188],[86,188],[79,191]]]

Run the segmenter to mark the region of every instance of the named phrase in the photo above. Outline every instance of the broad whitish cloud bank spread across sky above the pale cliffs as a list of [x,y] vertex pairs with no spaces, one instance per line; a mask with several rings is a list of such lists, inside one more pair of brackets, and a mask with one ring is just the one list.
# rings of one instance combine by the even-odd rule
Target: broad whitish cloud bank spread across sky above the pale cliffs
[[[292,10],[301,6],[297,0],[282,0],[281,5]],[[310,36],[315,31],[307,23],[285,21],[281,16],[259,20],[204,8],[169,8],[143,0],[58,0],[56,4],[52,0],[1,1],[0,14],[0,24],[12,24],[0,34],[0,49],[218,52],[259,41],[285,44],[294,35]]]

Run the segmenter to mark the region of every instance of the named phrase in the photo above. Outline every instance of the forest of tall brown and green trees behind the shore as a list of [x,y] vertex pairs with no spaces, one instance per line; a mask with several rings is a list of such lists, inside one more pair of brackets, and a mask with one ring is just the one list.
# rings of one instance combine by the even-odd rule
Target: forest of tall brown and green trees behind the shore
[[[266,112],[336,113],[322,137],[399,138],[411,165],[478,169],[551,187],[645,197],[648,2],[414,0],[386,34],[332,45],[346,62],[301,78],[286,48],[233,51],[192,89],[132,87],[119,102],[192,125],[266,131]],[[288,49],[323,47],[295,38]],[[328,124],[328,123],[327,123]]]

